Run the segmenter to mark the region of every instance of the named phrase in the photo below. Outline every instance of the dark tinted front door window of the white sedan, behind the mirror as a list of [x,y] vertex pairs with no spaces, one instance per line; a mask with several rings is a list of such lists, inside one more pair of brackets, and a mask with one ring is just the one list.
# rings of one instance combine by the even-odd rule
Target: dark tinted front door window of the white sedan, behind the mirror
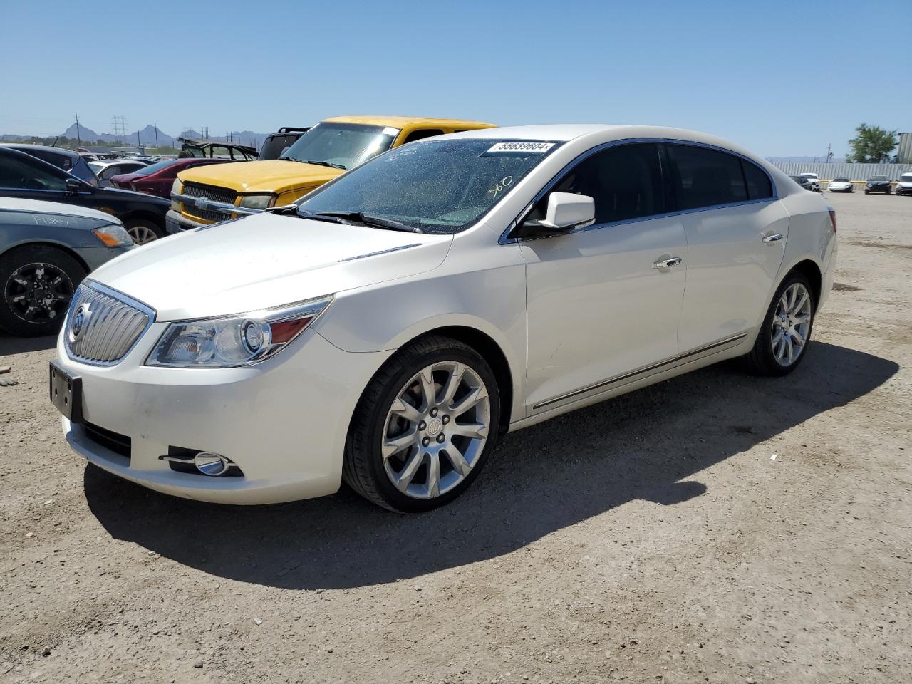
[[[596,204],[596,224],[665,212],[658,145],[635,143],[596,152],[568,171],[551,192],[591,197]],[[545,195],[527,218],[544,218],[547,202]]]

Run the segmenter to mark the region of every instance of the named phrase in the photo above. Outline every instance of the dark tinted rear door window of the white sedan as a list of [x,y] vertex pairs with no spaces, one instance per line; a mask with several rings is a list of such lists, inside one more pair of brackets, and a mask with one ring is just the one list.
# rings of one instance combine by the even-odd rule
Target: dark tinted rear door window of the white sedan
[[747,200],[740,157],[693,145],[668,145],[668,156],[678,170],[680,209]]

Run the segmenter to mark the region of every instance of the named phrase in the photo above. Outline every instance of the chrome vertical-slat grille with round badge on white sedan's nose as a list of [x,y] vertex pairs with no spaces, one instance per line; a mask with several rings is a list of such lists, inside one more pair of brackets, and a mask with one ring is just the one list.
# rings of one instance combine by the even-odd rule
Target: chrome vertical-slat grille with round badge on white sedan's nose
[[123,295],[101,285],[79,285],[67,314],[64,336],[71,358],[113,366],[151,325],[153,312],[148,306],[119,297]]

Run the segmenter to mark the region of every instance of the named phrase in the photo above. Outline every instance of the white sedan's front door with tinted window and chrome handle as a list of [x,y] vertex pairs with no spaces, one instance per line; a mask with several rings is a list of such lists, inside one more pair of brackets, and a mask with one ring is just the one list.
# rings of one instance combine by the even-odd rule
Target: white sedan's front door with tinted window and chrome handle
[[[551,192],[595,200],[596,223],[524,240],[527,410],[595,394],[678,354],[684,227],[667,212],[657,143],[598,150]],[[530,218],[544,216],[547,193]]]

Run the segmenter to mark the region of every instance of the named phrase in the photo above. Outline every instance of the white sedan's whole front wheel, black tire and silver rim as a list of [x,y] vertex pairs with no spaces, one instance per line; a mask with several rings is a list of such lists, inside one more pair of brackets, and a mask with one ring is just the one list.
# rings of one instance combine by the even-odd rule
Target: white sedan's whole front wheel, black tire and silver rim
[[352,418],[343,476],[390,511],[449,503],[478,477],[497,440],[497,381],[472,347],[426,337],[370,381]]

